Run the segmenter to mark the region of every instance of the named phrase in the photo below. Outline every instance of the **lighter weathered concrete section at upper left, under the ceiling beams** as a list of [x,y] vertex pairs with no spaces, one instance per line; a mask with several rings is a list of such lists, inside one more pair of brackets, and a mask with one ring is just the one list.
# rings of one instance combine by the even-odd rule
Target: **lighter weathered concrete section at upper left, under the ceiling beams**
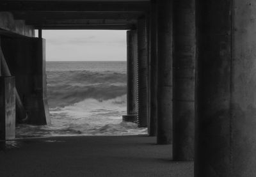
[[24,36],[35,36],[33,27],[26,26],[24,20],[14,20],[10,12],[0,12],[0,34],[17,33]]

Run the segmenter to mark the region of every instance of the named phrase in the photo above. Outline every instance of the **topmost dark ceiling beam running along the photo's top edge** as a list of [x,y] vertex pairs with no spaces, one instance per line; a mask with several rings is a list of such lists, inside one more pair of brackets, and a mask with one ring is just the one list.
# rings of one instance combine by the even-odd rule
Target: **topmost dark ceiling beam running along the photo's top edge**
[[0,1],[0,11],[33,12],[145,12],[147,1]]

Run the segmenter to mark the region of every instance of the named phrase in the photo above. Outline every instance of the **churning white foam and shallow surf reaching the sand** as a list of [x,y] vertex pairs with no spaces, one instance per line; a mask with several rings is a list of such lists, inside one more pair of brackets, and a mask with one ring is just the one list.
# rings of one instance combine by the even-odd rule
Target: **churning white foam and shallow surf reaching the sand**
[[122,122],[126,114],[126,95],[111,100],[86,99],[74,105],[51,109],[51,126],[21,125],[18,137],[70,135],[140,135],[147,128]]

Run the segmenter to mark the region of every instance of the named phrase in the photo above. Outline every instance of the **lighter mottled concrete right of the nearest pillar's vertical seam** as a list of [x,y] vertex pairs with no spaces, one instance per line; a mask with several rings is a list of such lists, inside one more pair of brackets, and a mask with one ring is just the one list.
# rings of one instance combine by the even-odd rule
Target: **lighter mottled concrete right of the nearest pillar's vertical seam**
[[256,2],[234,1],[230,176],[256,176]]

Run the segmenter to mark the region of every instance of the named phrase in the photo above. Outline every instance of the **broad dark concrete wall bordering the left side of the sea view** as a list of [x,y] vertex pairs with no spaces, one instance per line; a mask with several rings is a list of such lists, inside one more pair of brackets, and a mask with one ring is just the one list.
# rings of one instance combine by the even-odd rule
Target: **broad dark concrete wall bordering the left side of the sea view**
[[2,38],[1,47],[28,112],[28,123],[50,124],[46,96],[45,40]]

